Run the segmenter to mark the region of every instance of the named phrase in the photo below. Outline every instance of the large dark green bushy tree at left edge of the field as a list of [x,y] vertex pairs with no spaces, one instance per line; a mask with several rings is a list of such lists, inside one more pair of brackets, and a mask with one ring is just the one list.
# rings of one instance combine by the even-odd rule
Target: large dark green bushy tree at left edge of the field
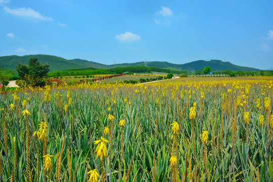
[[19,63],[16,67],[19,78],[24,80],[26,84],[32,86],[42,86],[45,84],[43,78],[48,76],[50,65],[41,65],[38,58],[30,58],[27,65]]

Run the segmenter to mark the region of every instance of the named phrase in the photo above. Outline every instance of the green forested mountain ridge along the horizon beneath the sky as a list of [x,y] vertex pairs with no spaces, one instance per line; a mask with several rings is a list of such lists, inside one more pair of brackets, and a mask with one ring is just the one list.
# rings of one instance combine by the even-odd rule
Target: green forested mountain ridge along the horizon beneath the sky
[[80,69],[80,68],[100,68],[109,69],[114,67],[126,67],[126,66],[154,66],[159,68],[166,68],[171,70],[192,71],[203,70],[205,66],[210,66],[212,71],[217,70],[232,70],[232,71],[260,71],[260,69],[244,67],[234,65],[230,62],[222,62],[220,60],[198,60],[185,64],[173,64],[168,62],[151,61],[151,62],[136,62],[136,63],[122,63],[116,65],[105,65],[93,61],[87,61],[82,59],[67,60],[57,56],[51,55],[26,55],[26,56],[2,56],[0,57],[0,66],[7,69],[16,70],[18,63],[28,64],[28,60],[31,57],[38,58],[41,64],[48,63],[50,65],[50,72],[63,71],[68,69]]

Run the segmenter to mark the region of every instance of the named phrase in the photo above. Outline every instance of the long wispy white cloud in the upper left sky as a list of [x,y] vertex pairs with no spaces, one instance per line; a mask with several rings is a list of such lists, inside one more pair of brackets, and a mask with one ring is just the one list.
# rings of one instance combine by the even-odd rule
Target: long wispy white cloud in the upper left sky
[[[0,0],[1,1],[1,0]],[[30,17],[37,20],[43,20],[43,21],[53,21],[51,17],[46,17],[41,15],[39,12],[36,12],[30,8],[16,8],[16,9],[9,9],[8,7],[4,7],[4,10],[7,13],[16,15],[16,16],[22,16],[22,17]]]

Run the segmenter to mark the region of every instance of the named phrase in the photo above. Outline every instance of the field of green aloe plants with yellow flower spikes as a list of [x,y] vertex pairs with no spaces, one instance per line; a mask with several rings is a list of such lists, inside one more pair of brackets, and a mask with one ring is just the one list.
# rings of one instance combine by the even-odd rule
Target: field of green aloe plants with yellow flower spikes
[[0,94],[0,181],[272,181],[271,77]]

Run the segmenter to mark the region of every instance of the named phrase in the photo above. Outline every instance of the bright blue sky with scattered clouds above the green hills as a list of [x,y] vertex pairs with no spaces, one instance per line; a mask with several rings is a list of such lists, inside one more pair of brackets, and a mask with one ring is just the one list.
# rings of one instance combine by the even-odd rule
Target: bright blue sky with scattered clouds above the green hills
[[0,56],[273,67],[273,1],[0,0]]

